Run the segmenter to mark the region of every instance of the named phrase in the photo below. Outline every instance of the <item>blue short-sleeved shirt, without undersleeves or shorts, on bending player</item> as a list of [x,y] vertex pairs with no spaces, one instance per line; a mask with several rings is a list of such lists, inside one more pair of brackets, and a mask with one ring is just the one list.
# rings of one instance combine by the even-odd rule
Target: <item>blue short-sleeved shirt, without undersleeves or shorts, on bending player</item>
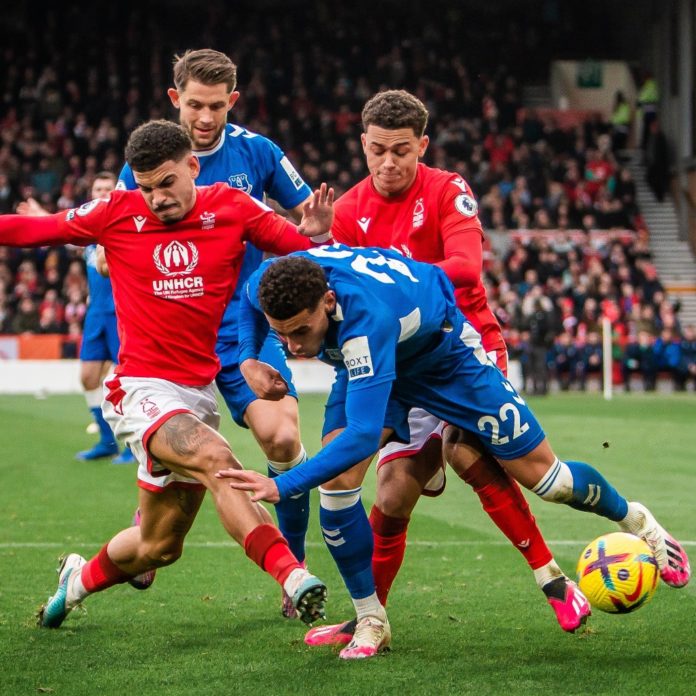
[[[318,357],[347,370],[349,389],[394,380],[397,363],[427,355],[456,311],[444,272],[396,251],[334,244],[292,255],[317,262],[336,293],[336,313]],[[258,284],[272,262],[249,280],[248,298],[259,312]],[[251,357],[246,337],[242,343],[240,362]]]

